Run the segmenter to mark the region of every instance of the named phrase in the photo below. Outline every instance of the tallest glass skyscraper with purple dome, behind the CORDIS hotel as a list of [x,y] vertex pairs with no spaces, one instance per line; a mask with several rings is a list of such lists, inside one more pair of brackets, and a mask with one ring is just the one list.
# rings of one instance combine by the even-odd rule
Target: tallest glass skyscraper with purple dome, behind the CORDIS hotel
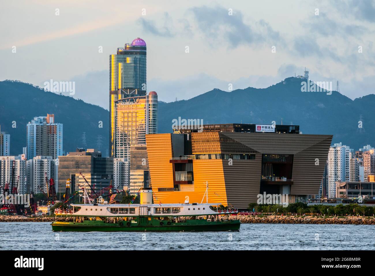
[[146,95],[146,43],[136,38],[110,55],[110,156],[115,156],[115,101]]

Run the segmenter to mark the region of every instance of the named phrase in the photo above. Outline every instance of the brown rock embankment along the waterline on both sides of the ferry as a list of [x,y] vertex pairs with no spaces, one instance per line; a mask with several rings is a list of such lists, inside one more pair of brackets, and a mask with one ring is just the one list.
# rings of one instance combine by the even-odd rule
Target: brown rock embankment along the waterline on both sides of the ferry
[[[225,215],[223,215],[225,216]],[[240,219],[241,223],[290,223],[290,224],[364,224],[375,225],[375,217],[365,216],[276,216],[237,215],[229,219]],[[70,217],[58,217],[56,221],[69,221]],[[0,216],[0,222],[52,222],[55,217]]]

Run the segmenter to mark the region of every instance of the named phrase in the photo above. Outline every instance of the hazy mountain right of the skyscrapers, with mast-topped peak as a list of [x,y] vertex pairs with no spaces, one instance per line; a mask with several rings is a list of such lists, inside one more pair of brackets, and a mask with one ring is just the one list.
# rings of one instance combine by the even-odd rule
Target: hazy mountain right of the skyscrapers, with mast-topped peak
[[291,77],[265,89],[213,89],[186,101],[160,102],[159,133],[171,132],[172,119],[178,116],[203,119],[204,124],[281,124],[282,119],[283,124],[300,125],[302,133],[333,134],[333,143],[354,150],[375,146],[374,94],[353,101],[336,91],[301,92],[302,81]]

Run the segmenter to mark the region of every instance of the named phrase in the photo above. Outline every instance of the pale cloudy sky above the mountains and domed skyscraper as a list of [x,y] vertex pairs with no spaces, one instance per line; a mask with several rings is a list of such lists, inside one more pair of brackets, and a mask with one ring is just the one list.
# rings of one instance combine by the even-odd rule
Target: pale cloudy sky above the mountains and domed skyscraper
[[374,93],[375,1],[133,2],[1,1],[0,80],[72,81],[74,98],[108,109],[109,55],[141,37],[159,101],[266,88],[305,67],[351,99]]

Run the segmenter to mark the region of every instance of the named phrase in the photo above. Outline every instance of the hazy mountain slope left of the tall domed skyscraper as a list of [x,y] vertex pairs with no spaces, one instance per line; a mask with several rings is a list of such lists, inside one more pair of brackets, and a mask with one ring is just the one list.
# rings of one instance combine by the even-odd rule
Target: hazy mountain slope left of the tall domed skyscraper
[[[108,149],[108,110],[69,96],[45,92],[32,84],[19,81],[0,82],[1,131],[10,134],[10,154],[22,153],[26,147],[26,124],[34,117],[55,114],[55,122],[63,124],[63,150],[77,147],[99,148],[103,156]],[[12,128],[12,122],[16,127]],[[99,121],[103,127],[99,128]],[[86,144],[83,134],[86,133]]]

